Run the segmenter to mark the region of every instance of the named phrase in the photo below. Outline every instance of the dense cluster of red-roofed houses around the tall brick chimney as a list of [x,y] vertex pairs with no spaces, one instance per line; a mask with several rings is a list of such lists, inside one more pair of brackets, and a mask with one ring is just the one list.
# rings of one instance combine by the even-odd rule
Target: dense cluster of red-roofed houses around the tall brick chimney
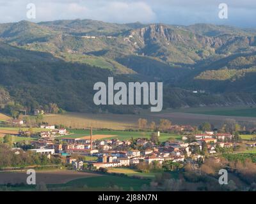
[[[54,126],[41,126],[45,129],[40,133],[40,139],[31,141],[35,149],[31,151],[66,157],[66,163],[72,164],[74,168],[80,170],[83,168],[84,161],[76,161],[72,155],[97,156],[97,161],[86,161],[93,168],[109,168],[118,166],[132,166],[144,162],[150,164],[154,161],[163,163],[164,161],[173,161],[184,163],[189,158],[190,161],[197,163],[199,159],[204,159],[200,155],[203,146],[207,146],[208,154],[216,153],[216,145],[219,147],[233,147],[231,143],[232,135],[230,133],[215,133],[214,131],[205,131],[202,134],[195,134],[195,140],[188,142],[188,136],[183,136],[182,140],[166,141],[161,145],[156,145],[147,138],[136,138],[131,140],[95,140],[84,136],[81,138],[63,137],[60,140],[54,140],[54,135],[66,135],[66,129],[55,129]],[[182,131],[190,131],[190,126],[172,126],[171,128],[182,128]],[[53,135],[53,136],[52,136]],[[159,136],[159,135],[158,135]],[[135,145],[135,146],[134,146]],[[136,147],[135,149],[133,149]],[[140,150],[138,150],[140,149]]]

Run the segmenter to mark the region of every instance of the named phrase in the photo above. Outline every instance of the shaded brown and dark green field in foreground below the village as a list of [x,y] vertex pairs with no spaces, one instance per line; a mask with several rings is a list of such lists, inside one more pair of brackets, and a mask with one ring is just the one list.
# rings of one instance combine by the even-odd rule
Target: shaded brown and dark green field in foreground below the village
[[[0,173],[0,189],[4,184],[26,184],[26,171]],[[36,171],[36,184],[43,184],[50,191],[108,191],[118,188],[124,191],[140,191],[141,186],[149,184],[148,179],[134,179],[114,175],[101,175],[71,170]],[[11,191],[35,191],[36,186],[10,187]]]

